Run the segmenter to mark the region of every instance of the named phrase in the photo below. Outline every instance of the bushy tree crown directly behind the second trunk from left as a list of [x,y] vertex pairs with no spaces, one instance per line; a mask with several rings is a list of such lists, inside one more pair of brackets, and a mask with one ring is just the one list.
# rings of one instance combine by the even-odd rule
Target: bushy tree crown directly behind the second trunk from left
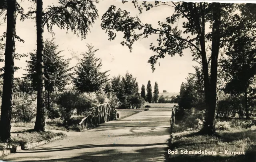
[[[44,42],[44,77],[45,89],[49,92],[62,90],[69,81],[69,62],[70,59],[63,59],[62,51],[57,51],[58,45],[50,39]],[[26,66],[28,74],[25,78],[31,81],[31,86],[36,90],[38,77],[36,74],[36,51],[29,53],[30,60]]]

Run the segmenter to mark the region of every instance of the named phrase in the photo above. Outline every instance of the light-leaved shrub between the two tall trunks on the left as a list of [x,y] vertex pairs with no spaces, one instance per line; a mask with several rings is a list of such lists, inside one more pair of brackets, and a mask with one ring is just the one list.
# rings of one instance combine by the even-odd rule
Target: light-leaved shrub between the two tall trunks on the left
[[30,122],[36,116],[36,94],[23,93],[14,98],[12,119],[14,122]]

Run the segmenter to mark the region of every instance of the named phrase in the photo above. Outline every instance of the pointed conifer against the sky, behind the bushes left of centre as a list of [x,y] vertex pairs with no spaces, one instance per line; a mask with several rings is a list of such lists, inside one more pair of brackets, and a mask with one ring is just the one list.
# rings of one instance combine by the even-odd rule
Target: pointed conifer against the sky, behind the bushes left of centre
[[80,92],[96,92],[103,88],[108,82],[109,71],[101,72],[102,63],[100,58],[96,58],[93,46],[87,44],[88,51],[82,53],[83,59],[80,60],[78,66],[75,67],[75,77],[73,82],[77,90]]

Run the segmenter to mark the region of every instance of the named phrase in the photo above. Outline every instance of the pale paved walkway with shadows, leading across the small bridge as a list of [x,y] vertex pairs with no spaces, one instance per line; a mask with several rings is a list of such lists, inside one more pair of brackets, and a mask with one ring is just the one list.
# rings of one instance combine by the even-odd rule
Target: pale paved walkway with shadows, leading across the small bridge
[[150,108],[65,139],[10,154],[12,162],[164,162],[172,109]]

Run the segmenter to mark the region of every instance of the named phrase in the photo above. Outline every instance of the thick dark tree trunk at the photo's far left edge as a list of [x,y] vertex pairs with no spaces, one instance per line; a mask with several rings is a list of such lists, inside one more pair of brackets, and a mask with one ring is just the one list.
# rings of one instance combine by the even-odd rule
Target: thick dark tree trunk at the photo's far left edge
[[2,94],[2,109],[0,120],[0,140],[11,139],[12,123],[12,87],[14,80],[14,53],[16,34],[16,0],[7,1],[7,30],[4,63],[4,86]]

